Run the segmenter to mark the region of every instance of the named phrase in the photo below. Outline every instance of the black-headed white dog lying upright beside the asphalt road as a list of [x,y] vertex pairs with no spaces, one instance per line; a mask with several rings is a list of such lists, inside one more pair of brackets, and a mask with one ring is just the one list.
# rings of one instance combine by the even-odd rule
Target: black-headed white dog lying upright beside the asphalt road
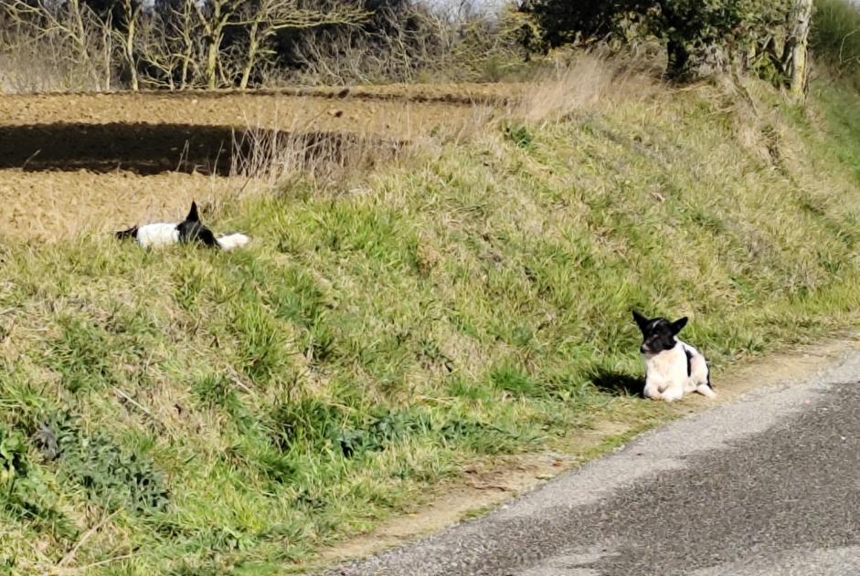
[[685,393],[697,392],[714,398],[705,356],[675,338],[687,319],[674,322],[664,318],[647,319],[633,310],[633,319],[642,330],[642,360],[645,362],[645,398],[674,402]]

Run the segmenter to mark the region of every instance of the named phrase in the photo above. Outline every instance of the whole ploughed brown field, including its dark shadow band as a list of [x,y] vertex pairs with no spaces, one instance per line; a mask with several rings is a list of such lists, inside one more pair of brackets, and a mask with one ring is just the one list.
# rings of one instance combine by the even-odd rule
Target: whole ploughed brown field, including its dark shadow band
[[192,198],[235,192],[245,181],[229,177],[236,155],[260,141],[298,141],[342,162],[354,145],[396,150],[519,89],[0,96],[0,236],[51,241],[177,218]]

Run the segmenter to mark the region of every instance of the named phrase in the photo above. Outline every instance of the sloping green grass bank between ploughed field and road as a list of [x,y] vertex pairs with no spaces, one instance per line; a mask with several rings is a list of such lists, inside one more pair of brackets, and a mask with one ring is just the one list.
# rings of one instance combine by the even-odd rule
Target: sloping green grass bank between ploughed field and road
[[466,462],[668,417],[612,389],[632,307],[717,367],[855,325],[860,98],[752,88],[772,111],[662,92],[301,183],[222,215],[236,253],[6,243],[0,567],[292,570]]

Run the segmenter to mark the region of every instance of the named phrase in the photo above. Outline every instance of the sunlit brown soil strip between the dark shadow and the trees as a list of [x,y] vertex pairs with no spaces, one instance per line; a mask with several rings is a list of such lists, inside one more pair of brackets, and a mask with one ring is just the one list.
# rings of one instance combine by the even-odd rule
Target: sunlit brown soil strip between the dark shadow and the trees
[[[380,95],[384,93],[380,90]],[[409,139],[442,122],[467,118],[471,101],[443,97],[337,99],[271,92],[19,95],[0,97],[0,125],[135,126],[143,122],[171,126],[173,130],[260,126],[281,131],[340,131]]]

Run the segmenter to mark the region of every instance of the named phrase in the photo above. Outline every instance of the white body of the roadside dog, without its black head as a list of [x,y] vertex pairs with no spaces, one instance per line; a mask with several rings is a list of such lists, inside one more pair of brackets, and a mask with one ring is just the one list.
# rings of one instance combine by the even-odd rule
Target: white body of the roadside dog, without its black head
[[[689,355],[689,372],[687,356]],[[705,356],[686,342],[657,354],[642,354],[645,362],[645,398],[674,402],[685,393],[697,392],[713,398]]]

